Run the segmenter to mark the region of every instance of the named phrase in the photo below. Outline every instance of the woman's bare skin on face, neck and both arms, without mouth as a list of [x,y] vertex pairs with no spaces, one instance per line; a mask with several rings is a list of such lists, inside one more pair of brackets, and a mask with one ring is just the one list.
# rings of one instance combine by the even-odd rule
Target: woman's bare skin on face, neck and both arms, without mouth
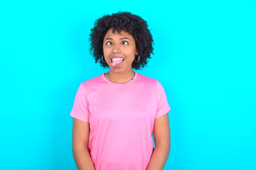
[[[127,82],[134,76],[131,64],[134,62],[134,56],[138,54],[138,51],[131,34],[125,31],[121,31],[121,34],[117,32],[112,33],[112,29],[109,29],[104,37],[103,52],[105,61],[110,67],[108,76],[112,81],[119,83]],[[120,67],[111,66],[111,57],[113,56],[122,56],[125,58]],[[170,152],[171,139],[168,113],[155,119],[153,133],[155,149],[147,170],[163,170]],[[74,118],[73,156],[79,170],[95,170],[88,151],[89,134],[90,125]]]

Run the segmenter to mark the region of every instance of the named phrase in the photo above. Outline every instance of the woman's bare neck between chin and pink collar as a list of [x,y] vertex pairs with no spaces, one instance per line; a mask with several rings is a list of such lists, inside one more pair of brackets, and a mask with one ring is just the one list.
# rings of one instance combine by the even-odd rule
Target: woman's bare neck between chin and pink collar
[[109,71],[108,73],[109,80],[117,83],[123,83],[131,80],[134,77],[134,71],[131,69],[122,73],[116,73],[114,71]]

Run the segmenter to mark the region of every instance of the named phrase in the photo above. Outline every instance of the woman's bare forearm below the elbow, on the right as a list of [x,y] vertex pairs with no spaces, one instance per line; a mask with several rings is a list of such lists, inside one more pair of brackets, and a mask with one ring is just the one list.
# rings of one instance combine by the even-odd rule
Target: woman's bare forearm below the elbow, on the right
[[156,147],[148,164],[147,170],[163,170],[170,153],[169,146]]

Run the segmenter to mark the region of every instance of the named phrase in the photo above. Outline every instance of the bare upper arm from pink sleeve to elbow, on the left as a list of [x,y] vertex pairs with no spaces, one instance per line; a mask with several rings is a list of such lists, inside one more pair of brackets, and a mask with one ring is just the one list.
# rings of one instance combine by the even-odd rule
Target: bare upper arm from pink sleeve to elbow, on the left
[[72,145],[73,149],[88,147],[90,124],[73,118]]

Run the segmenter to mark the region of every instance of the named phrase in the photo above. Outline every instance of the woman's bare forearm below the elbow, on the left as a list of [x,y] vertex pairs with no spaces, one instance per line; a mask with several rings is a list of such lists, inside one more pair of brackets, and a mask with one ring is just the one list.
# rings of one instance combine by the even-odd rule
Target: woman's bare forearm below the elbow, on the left
[[78,170],[95,170],[93,161],[87,148],[73,149],[73,157]]

